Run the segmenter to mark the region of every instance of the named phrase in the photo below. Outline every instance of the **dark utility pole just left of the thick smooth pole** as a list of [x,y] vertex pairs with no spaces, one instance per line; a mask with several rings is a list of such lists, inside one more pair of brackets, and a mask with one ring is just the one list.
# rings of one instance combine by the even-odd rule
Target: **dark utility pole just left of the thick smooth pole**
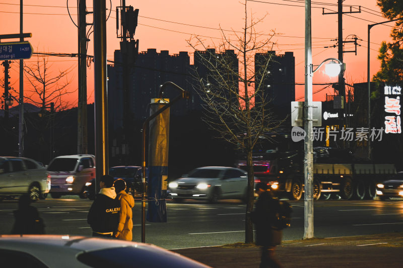
[[78,58],[79,58],[79,102],[77,118],[77,153],[88,153],[87,127],[87,23],[86,0],[79,0],[78,14]]

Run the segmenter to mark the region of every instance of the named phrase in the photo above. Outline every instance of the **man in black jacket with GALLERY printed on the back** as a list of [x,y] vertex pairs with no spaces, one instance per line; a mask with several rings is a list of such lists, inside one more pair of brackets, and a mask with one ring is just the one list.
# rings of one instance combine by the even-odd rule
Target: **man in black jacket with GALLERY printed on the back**
[[100,178],[101,190],[95,196],[88,212],[87,222],[92,229],[92,236],[112,238],[113,231],[119,223],[119,200],[115,199],[116,193],[113,186],[113,177],[103,175]]

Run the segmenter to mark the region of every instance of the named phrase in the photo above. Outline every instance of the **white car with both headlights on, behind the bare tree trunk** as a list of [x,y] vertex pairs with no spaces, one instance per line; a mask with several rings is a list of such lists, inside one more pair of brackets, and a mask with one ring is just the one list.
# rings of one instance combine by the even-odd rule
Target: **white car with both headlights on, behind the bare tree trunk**
[[208,200],[210,203],[220,199],[246,200],[247,186],[248,176],[244,170],[225,166],[198,167],[169,183],[174,202],[184,199]]

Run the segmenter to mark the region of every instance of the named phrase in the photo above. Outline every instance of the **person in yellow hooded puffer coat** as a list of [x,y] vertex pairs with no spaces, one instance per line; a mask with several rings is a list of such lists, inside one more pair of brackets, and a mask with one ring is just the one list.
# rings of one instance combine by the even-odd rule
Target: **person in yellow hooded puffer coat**
[[118,178],[114,182],[114,187],[116,191],[116,199],[120,202],[120,212],[119,212],[119,224],[117,225],[117,230],[114,232],[114,236],[118,239],[131,241],[133,238],[133,212],[131,209],[135,206],[135,199],[124,190],[126,189],[126,182],[121,178]]

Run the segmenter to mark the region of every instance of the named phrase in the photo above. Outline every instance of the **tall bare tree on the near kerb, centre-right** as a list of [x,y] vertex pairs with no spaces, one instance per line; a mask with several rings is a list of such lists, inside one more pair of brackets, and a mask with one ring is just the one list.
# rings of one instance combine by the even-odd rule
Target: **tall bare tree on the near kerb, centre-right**
[[[245,1],[244,27],[241,32],[232,30],[230,35],[221,27],[222,41],[213,47],[198,36],[187,43],[195,49],[195,90],[202,100],[203,120],[219,133],[219,136],[246,153],[248,188],[245,216],[245,243],[253,242],[253,227],[250,212],[253,210],[253,162],[252,150],[267,132],[280,126],[268,105],[264,82],[270,73],[272,61],[272,37],[263,35],[255,26],[264,19],[249,19]],[[231,40],[230,36],[234,36]],[[199,49],[202,50],[199,50]],[[204,50],[204,51],[203,51]],[[218,51],[219,53],[216,53]],[[254,60],[255,54],[259,60]],[[255,68],[256,65],[256,68]],[[255,71],[256,70],[256,71]],[[256,101],[256,103],[255,103]]]

